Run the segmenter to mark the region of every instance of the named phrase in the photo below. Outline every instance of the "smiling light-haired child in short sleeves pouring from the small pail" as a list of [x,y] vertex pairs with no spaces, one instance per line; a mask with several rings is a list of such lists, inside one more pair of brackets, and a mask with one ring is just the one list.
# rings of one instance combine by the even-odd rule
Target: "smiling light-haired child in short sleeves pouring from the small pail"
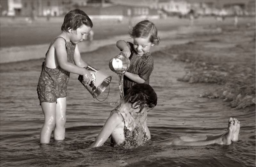
[[149,84],[149,76],[154,69],[150,49],[160,41],[155,24],[149,20],[136,24],[130,35],[133,43],[123,40],[116,42],[116,47],[122,51],[123,56],[131,61],[129,69],[124,73],[124,95],[135,84]]

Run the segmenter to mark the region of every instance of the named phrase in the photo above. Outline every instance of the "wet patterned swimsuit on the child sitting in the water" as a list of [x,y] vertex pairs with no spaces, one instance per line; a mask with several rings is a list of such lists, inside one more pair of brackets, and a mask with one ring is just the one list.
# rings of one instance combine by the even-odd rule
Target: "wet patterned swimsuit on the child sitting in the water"
[[[111,111],[112,112],[112,111]],[[121,114],[123,121],[124,121],[124,117]],[[135,128],[133,130],[129,130],[126,125],[125,125],[125,121],[124,121],[124,142],[121,145],[118,145],[120,147],[124,147],[126,149],[131,149],[131,148],[136,148],[139,146],[142,146],[143,144],[145,144],[148,141],[148,136],[146,131],[143,129],[143,134],[140,134],[140,129],[141,127],[139,127],[138,125],[135,126]],[[142,135],[142,141],[138,141],[137,140],[137,136],[138,135]],[[116,143],[115,141],[112,139],[110,140],[110,145],[116,147]]]

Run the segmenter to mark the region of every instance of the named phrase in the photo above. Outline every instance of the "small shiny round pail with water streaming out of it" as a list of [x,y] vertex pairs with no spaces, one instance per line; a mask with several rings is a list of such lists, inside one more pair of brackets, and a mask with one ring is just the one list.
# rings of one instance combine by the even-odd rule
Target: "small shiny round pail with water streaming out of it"
[[113,72],[119,74],[125,73],[130,67],[130,59],[124,57],[122,54],[117,55],[109,61],[109,68]]

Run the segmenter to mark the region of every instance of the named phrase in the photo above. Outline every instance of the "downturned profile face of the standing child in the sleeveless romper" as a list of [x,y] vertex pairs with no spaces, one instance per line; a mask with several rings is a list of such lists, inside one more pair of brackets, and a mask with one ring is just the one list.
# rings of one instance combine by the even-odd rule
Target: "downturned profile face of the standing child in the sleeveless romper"
[[85,26],[84,24],[80,27],[78,27],[76,30],[68,30],[70,35],[70,41],[74,44],[77,44],[81,41],[83,41],[86,36],[91,31],[91,27]]

